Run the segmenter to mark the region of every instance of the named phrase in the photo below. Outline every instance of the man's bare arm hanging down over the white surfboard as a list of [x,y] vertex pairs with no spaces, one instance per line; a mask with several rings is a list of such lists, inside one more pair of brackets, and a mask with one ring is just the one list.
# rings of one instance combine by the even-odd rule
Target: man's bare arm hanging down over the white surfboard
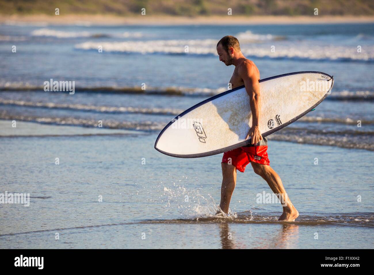
[[242,77],[245,85],[245,90],[249,95],[249,105],[252,111],[252,127],[249,129],[245,139],[251,137],[251,143],[256,144],[262,140],[262,135],[259,128],[259,120],[261,115],[261,97],[260,97],[260,83],[258,83],[257,70],[252,69],[251,64],[243,64],[239,70],[239,75]]

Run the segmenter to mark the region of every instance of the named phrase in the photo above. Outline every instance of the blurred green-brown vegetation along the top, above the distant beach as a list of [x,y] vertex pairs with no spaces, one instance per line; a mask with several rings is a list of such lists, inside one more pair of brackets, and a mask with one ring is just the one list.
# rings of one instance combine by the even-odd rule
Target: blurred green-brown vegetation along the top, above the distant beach
[[3,15],[374,15],[373,0],[0,0]]

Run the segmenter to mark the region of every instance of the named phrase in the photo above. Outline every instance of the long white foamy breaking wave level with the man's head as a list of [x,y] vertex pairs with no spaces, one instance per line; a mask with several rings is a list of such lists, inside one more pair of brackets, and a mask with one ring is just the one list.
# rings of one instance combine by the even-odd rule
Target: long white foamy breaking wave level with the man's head
[[[243,34],[244,35],[244,34]],[[251,36],[254,36],[251,34]],[[256,35],[262,41],[272,38],[268,35]],[[243,43],[244,44],[244,43]],[[147,40],[147,41],[121,41],[121,42],[100,42],[104,52],[122,52],[126,54],[182,54],[217,56],[217,40],[195,39],[195,40]],[[186,51],[188,46],[188,51]],[[80,50],[97,51],[98,42],[87,41],[75,45]],[[318,61],[374,61],[374,46],[369,46],[365,52],[358,53],[355,48],[349,46],[312,46],[305,42],[298,47],[291,45],[278,46],[275,51],[269,47],[251,43],[248,46],[242,45],[242,52],[245,56],[271,59],[295,59],[295,60],[318,60]]]

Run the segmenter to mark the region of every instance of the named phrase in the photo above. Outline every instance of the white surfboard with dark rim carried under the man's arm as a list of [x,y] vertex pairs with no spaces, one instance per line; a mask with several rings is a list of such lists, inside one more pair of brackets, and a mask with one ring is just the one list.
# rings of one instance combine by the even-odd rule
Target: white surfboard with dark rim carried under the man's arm
[[[299,71],[259,80],[260,132],[273,134],[303,117],[330,94],[334,79],[319,71]],[[251,143],[245,140],[252,112],[245,86],[228,90],[189,108],[171,120],[154,148],[177,158],[200,158]]]

